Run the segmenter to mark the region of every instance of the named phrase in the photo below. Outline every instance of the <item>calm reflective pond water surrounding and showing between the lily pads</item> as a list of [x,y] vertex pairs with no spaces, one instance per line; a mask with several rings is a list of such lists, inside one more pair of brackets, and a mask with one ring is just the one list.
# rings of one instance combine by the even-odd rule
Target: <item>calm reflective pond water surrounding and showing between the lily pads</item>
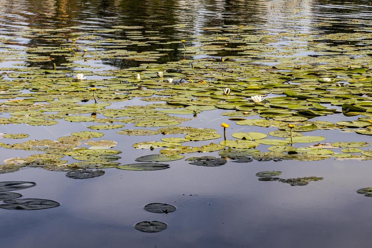
[[[251,34],[308,31],[331,34],[353,32],[355,28],[365,28],[366,32],[371,32],[372,27],[364,22],[355,22],[355,25],[346,22],[353,19],[372,19],[369,1],[0,0],[1,37],[12,37],[12,31],[26,27],[64,28],[87,24],[98,30],[115,25],[144,26],[143,30],[156,31],[156,35],[165,41],[209,34],[205,28],[223,25],[251,25]],[[327,22],[330,25],[317,25]],[[125,39],[131,34],[121,31],[102,35]],[[151,33],[147,35],[151,36]],[[283,38],[274,45],[286,45],[286,42]],[[8,45],[22,48],[51,44],[34,37],[19,37]],[[142,49],[153,51],[154,46],[173,49],[157,62],[165,63],[177,61],[183,56],[182,51],[177,50],[179,43],[173,45],[164,47],[154,44]],[[126,48],[131,49],[138,47]],[[231,54],[224,52],[205,57],[221,55]],[[313,52],[304,48],[301,55],[310,56]],[[58,64],[63,62],[56,61]],[[88,63],[104,66],[105,69],[125,69],[143,62],[105,59]],[[0,66],[10,64],[3,62]],[[50,68],[51,63],[30,63],[28,66]],[[113,103],[112,107],[141,104],[146,102],[135,98],[130,102]],[[222,112],[225,111],[216,109],[202,112],[198,118],[184,125],[219,130],[219,123],[224,120],[222,116],[219,117]],[[3,114],[2,117],[9,115]],[[333,122],[345,120],[342,115],[333,115],[331,118]],[[319,117],[314,120],[323,119]],[[32,127],[28,139],[53,140],[70,135],[73,131],[87,130],[86,126],[90,124],[59,123]],[[125,127],[129,129],[132,126],[126,124]],[[267,128],[243,128],[234,123],[230,127],[228,135],[239,130],[267,132]],[[27,128],[26,124],[3,125],[1,132],[19,133]],[[132,144],[161,138],[159,134],[151,138],[121,136],[121,140],[118,140],[115,131],[103,130],[104,138],[118,142],[114,149],[123,152],[118,162],[124,164],[155,153],[149,151],[144,154],[144,150],[134,149]],[[340,136],[339,130],[317,130],[312,135],[327,135],[327,142],[359,141],[353,133],[342,133]],[[364,139],[372,142],[370,136]],[[14,142],[10,139],[1,141]],[[200,144],[204,143],[195,143]],[[22,156],[33,153],[23,151]],[[20,156],[19,150],[0,148],[1,161],[16,156]],[[208,156],[218,154],[214,152]],[[370,160],[254,160],[250,163],[228,162],[219,167],[193,166],[183,159],[167,163],[170,168],[166,170],[139,172],[106,169],[104,176],[84,180],[67,178],[64,172],[40,168],[0,174],[0,181],[36,182],[35,187],[17,191],[26,198],[46,198],[61,203],[58,208],[38,211],[0,210],[1,247],[372,247],[372,201],[355,193],[359,188],[372,186]],[[307,186],[291,187],[279,182],[258,181],[255,176],[259,171],[273,170],[282,171],[283,178],[315,176],[324,179],[310,182]],[[145,204],[153,202],[173,204],[177,210],[170,214],[156,214],[143,209]],[[135,223],[144,220],[163,221],[169,228],[158,233],[135,230]]]

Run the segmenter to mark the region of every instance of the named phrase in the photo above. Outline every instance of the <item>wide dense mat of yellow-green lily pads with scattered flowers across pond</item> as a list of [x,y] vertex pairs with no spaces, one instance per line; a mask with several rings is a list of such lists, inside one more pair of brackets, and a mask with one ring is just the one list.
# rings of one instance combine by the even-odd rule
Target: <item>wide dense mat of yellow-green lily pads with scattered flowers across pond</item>
[[[125,31],[128,39],[102,35],[118,31]],[[155,34],[158,36],[148,36]],[[7,46],[15,38],[0,38],[0,61],[22,61],[0,68],[3,71],[0,99],[4,99],[0,112],[6,116],[0,118],[0,124],[88,124],[87,130],[76,130],[57,140],[1,143],[6,149],[45,153],[6,159],[0,173],[41,167],[67,172],[70,178],[85,179],[99,177],[105,174],[102,169],[113,167],[135,171],[167,169],[169,165],[159,162],[184,159],[188,153],[217,151],[221,158],[192,154],[186,160],[193,165],[221,166],[227,161],[251,162],[253,159],[372,158],[371,150],[360,149],[370,145],[368,139],[372,135],[369,65],[372,44],[371,34],[363,29],[352,34],[308,31],[273,35],[253,32],[251,26],[224,26],[206,28],[203,34],[190,35],[185,40],[169,40],[157,32],[144,31],[141,26],[114,26],[87,32],[75,32],[73,28],[26,28],[8,35],[56,45],[19,51]],[[145,41],[146,36],[163,48],[144,52],[129,49],[151,45]],[[272,45],[283,37],[291,42]],[[330,45],[331,41],[344,43]],[[302,42],[307,42],[306,47],[298,45]],[[157,63],[174,50],[182,51],[182,60]],[[298,55],[303,50],[314,55]],[[133,60],[138,65],[105,70],[84,63],[94,60]],[[36,66],[45,61],[54,66]],[[56,64],[55,61],[64,62]],[[142,105],[130,104],[138,99]],[[222,137],[221,130],[179,126],[203,116],[205,111],[221,114],[226,123],[236,122],[247,132],[233,133],[234,139],[224,135],[224,140],[211,143]],[[329,121],[332,116],[340,120]],[[328,119],[318,120],[318,117]],[[125,125],[133,128],[122,129]],[[249,130],[255,127],[267,128],[267,132]],[[140,163],[121,165],[121,158],[116,156],[121,151],[111,149],[118,141],[87,141],[102,137],[105,130],[118,130],[118,141],[122,140],[119,135],[154,135],[157,138],[135,143],[133,147],[158,152],[135,159]],[[328,143],[324,136],[304,134],[315,130],[355,132],[362,134],[359,136],[362,140]],[[183,137],[179,137],[181,135]],[[26,139],[28,134],[4,134],[3,137]],[[79,147],[82,141],[89,147]],[[193,145],[199,141],[205,143]],[[264,146],[262,150],[260,145],[269,147]],[[67,163],[65,156],[80,162]],[[290,183],[289,179],[270,178],[266,181]],[[319,178],[302,181],[313,179]]]

